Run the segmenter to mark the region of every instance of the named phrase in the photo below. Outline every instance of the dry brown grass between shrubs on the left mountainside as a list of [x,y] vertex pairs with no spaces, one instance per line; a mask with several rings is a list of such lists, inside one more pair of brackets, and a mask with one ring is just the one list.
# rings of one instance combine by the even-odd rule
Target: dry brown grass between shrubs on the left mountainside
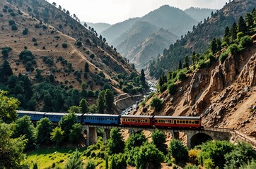
[[[62,70],[59,73],[54,73],[56,79],[59,80],[59,82],[69,80],[70,84],[71,81],[74,81],[75,83],[72,83],[74,87],[80,87],[81,84],[76,81],[76,77],[73,75],[73,73],[70,73],[70,75],[66,75],[66,73],[64,73],[64,66],[61,63],[56,63],[59,56],[62,56],[64,59],[66,59],[66,61],[71,62],[74,70],[83,71],[84,64],[86,62],[89,63],[91,73],[100,72],[100,70],[103,70],[103,73],[105,73],[105,77],[111,80],[114,87],[117,86],[117,82],[111,78],[112,76],[115,76],[118,73],[129,74],[134,71],[131,66],[126,61],[124,61],[122,56],[113,51],[109,46],[105,44],[101,45],[103,42],[101,42],[100,39],[95,37],[95,35],[91,34],[91,32],[86,30],[86,28],[77,23],[69,15],[66,15],[59,9],[48,4],[47,1],[39,2],[40,5],[37,6],[38,11],[45,10],[45,8],[43,8],[42,6],[47,6],[50,9],[50,13],[54,11],[54,15],[50,14],[48,16],[50,24],[42,23],[42,25],[47,26],[47,29],[45,30],[42,27],[35,28],[35,25],[40,25],[40,20],[37,20],[36,18],[31,18],[29,13],[26,13],[28,12],[28,6],[33,9],[33,6],[30,4],[31,1],[23,1],[22,6],[14,4],[14,2],[13,4],[9,4],[6,1],[0,1],[0,8],[4,8],[4,6],[7,5],[9,8],[12,8],[13,11],[16,13],[16,16],[13,17],[10,15],[10,13],[4,13],[1,11],[4,16],[0,18],[0,47],[10,46],[13,49],[13,51],[11,51],[9,54],[10,57],[8,58],[8,61],[11,63],[12,68],[17,68],[16,70],[13,69],[13,72],[15,74],[18,74],[20,72],[25,73],[25,65],[16,65],[16,60],[18,60],[18,54],[23,51],[24,46],[28,46],[28,50],[32,51],[32,53],[35,55],[38,65],[37,68],[43,70],[43,75],[47,71],[52,70],[53,68],[56,70]],[[21,10],[23,15],[17,14],[17,6]],[[52,17],[56,15],[62,15],[62,18],[74,22],[73,25],[74,27],[77,27],[77,30],[76,28],[72,30],[69,24],[64,26],[64,19],[62,20],[60,18]],[[18,30],[11,30],[11,26],[8,25],[8,20],[15,20]],[[57,30],[56,28],[59,24],[63,25],[63,28],[61,30]],[[28,35],[22,34],[25,27],[28,28]],[[32,41],[33,37],[37,39],[37,46],[33,45],[35,43]],[[59,39],[57,37],[59,37]],[[76,39],[78,39],[77,37],[79,37],[79,39],[81,38],[81,42],[83,42],[83,45],[80,47],[75,45]],[[94,45],[92,40],[93,38],[97,39],[98,44],[102,47]],[[89,39],[93,45],[86,43],[86,39]],[[68,47],[66,49],[62,48],[62,44],[64,42],[68,44]],[[58,46],[56,47],[56,45]],[[45,49],[42,49],[43,46],[45,46]],[[86,50],[84,50],[83,48],[85,48]],[[90,58],[91,54],[94,54],[95,57]],[[52,67],[45,65],[45,63],[42,61],[42,56],[52,58],[54,60],[54,63],[56,64]],[[110,63],[109,65],[103,63],[103,57],[108,57],[108,61]],[[30,76],[33,77],[33,73]],[[90,74],[88,79],[90,79]],[[95,86],[95,89],[98,89],[98,87]]]

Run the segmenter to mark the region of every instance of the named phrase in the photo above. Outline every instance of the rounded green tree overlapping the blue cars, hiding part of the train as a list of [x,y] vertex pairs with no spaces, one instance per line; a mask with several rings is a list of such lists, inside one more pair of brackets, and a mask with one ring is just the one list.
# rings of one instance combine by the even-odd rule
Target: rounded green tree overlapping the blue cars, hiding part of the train
[[62,119],[59,121],[59,126],[64,130],[64,139],[69,138],[70,130],[73,125],[77,123],[77,117],[75,113],[69,113],[68,115],[64,115]]

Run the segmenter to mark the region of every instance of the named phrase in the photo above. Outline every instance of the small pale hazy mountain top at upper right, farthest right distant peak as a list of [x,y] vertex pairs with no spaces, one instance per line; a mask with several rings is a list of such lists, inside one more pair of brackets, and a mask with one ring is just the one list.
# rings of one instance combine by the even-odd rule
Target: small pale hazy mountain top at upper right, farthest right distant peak
[[211,17],[211,12],[215,13],[216,9],[209,9],[209,8],[194,8],[190,7],[184,10],[187,15],[190,15],[194,20],[198,22],[204,21],[207,17]]

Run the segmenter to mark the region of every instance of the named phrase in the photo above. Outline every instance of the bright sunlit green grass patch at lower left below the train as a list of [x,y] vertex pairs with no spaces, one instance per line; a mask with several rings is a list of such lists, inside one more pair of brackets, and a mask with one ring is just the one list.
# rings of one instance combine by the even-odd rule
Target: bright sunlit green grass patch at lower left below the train
[[[86,148],[78,149],[79,152],[83,152],[84,150],[86,150]],[[38,167],[41,169],[51,167],[53,163],[64,168],[64,165],[74,151],[76,151],[75,148],[36,149],[27,154],[28,158],[25,163],[30,164],[30,167],[32,167],[33,163],[37,162]]]

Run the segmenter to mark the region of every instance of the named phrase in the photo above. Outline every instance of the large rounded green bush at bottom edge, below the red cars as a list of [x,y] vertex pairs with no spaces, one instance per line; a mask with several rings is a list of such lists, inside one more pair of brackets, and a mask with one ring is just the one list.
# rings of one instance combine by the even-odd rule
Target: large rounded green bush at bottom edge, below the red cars
[[135,165],[137,169],[160,169],[164,156],[154,144],[146,142],[136,154]]

